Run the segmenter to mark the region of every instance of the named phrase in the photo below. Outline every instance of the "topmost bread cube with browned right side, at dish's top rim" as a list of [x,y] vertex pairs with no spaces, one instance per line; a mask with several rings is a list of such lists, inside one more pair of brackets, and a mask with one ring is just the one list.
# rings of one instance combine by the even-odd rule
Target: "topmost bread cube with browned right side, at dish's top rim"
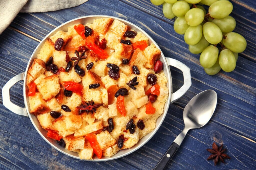
[[109,30],[109,26],[112,24],[112,22],[112,18],[94,19],[92,29],[99,34],[105,34]]

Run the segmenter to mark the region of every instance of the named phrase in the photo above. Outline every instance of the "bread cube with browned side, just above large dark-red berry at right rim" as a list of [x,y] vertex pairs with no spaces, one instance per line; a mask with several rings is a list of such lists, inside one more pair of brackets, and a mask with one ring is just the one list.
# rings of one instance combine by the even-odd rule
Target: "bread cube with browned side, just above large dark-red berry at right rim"
[[154,64],[161,56],[161,51],[152,43],[150,46],[145,48],[145,54],[147,62],[145,64],[146,68],[154,69]]

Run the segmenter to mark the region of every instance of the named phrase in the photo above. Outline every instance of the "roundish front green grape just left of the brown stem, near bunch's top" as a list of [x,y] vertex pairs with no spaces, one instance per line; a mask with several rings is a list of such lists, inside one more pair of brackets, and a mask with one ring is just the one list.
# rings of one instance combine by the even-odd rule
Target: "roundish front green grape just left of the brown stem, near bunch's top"
[[204,11],[200,8],[192,8],[185,15],[185,20],[190,26],[199,25],[201,22],[203,22],[204,18]]

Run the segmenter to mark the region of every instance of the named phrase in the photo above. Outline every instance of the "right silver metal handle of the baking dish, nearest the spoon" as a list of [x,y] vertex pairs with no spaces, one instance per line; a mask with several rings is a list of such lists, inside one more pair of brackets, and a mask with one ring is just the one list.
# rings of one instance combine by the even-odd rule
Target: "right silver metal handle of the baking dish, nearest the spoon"
[[191,86],[191,75],[190,75],[190,69],[182,62],[175,60],[173,58],[168,58],[168,57],[166,57],[166,61],[168,66],[176,67],[177,69],[183,72],[183,78],[184,78],[183,86],[180,87],[180,89],[178,89],[175,93],[172,92],[171,94],[170,102],[173,103],[188,91],[189,87]]

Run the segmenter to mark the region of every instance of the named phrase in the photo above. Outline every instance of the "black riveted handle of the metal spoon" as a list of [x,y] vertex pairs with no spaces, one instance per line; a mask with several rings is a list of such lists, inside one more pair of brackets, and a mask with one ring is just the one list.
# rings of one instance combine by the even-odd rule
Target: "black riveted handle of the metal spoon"
[[165,152],[161,160],[155,166],[154,170],[162,170],[166,167],[166,165],[170,162],[175,152],[178,150],[179,145],[175,142],[169,147],[169,149]]

